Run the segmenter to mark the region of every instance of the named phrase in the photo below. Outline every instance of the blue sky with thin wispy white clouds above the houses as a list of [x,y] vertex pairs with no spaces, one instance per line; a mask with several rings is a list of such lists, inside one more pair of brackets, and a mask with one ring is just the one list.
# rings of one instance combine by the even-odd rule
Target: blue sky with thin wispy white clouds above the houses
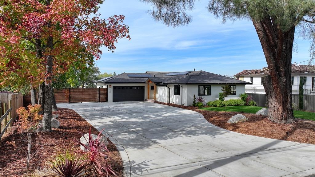
[[[138,0],[106,0],[99,13],[102,18],[114,14],[126,16],[131,40],[119,40],[114,53],[103,48],[96,65],[103,72],[208,71],[232,76],[245,69],[266,66],[255,28],[251,21],[221,23],[206,7],[208,1],[196,2],[189,14],[188,26],[168,27],[148,14],[151,4]],[[309,59],[309,45],[296,37],[297,53],[292,62]],[[301,64],[307,64],[301,63]]]

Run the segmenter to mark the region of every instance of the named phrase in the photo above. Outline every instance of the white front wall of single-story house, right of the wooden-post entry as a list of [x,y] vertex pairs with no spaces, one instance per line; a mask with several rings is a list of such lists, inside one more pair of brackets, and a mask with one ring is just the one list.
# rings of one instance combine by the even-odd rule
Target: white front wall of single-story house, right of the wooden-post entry
[[[180,95],[174,95],[174,85],[169,84],[167,86],[170,88],[170,103],[180,105],[181,96],[182,96],[181,87],[180,87]],[[199,85],[180,85],[180,86],[183,86],[183,105],[191,106],[193,102],[193,96],[196,95],[196,97],[199,97],[198,95]],[[223,85],[211,85],[211,95],[202,96],[202,97],[206,99],[206,102],[219,100],[219,93],[222,92],[221,86]],[[165,86],[157,87],[157,101],[160,101],[163,103],[169,103],[169,88]],[[236,95],[229,95],[227,97],[227,100],[238,99],[239,94],[242,94],[244,92],[245,92],[245,85],[236,85]]]

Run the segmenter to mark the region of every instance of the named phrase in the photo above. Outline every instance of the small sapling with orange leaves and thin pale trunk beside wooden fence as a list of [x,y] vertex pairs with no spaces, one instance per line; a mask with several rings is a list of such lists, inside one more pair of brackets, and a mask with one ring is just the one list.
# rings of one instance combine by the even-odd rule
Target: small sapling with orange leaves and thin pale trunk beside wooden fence
[[[38,114],[41,111],[41,105],[31,104],[27,107],[20,107],[16,110],[19,115],[19,128],[18,130],[23,133],[26,132],[26,140],[27,140],[27,157],[26,157],[26,168],[29,169],[30,163],[30,155],[31,155],[31,140],[32,135],[36,132],[38,122],[42,120],[43,115]],[[23,135],[23,134],[22,134]]]

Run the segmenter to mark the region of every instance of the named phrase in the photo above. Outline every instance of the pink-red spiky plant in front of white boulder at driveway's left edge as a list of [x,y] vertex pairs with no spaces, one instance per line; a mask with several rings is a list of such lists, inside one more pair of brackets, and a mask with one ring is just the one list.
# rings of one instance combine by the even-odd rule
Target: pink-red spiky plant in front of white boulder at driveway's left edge
[[109,156],[108,153],[110,151],[107,149],[105,142],[102,141],[103,135],[101,134],[103,132],[100,131],[100,133],[97,135],[97,138],[93,140],[93,137],[91,135],[91,128],[89,130],[89,139],[87,140],[84,137],[84,134],[82,136],[87,142],[87,145],[80,141],[76,141],[78,144],[82,145],[86,151],[77,151],[77,153],[80,153],[84,155],[87,158],[88,163],[91,165],[90,173],[91,176],[108,176],[108,174],[113,174],[117,176],[111,165],[108,162]]

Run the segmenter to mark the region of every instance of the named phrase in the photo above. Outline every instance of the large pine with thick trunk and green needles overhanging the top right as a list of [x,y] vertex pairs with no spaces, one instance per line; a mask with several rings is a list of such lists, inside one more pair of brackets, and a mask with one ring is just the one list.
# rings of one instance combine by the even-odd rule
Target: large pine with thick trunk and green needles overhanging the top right
[[[142,0],[152,3],[151,14],[169,26],[187,25],[192,17],[187,9],[196,0]],[[207,9],[226,20],[252,20],[261,42],[269,76],[263,83],[269,105],[269,120],[293,123],[291,60],[294,36],[311,42],[311,60],[315,58],[314,0],[210,0]],[[297,30],[296,30],[297,28]]]

